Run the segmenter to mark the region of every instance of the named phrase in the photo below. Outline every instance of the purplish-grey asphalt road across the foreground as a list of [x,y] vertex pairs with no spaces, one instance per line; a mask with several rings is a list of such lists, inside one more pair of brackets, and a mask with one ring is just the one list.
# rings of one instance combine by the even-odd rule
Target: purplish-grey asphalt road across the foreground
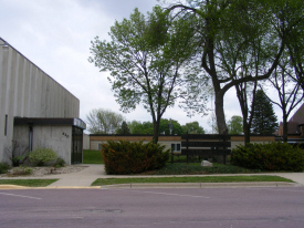
[[304,187],[0,190],[0,227],[304,227]]

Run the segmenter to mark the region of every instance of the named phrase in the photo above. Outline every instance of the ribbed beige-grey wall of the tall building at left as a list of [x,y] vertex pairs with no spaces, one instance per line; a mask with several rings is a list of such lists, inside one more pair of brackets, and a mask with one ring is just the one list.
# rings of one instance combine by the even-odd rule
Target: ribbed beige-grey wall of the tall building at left
[[[3,41],[0,39],[0,43]],[[6,115],[8,134],[4,135]],[[0,162],[13,138],[13,117],[78,117],[80,101],[25,56],[0,45]]]

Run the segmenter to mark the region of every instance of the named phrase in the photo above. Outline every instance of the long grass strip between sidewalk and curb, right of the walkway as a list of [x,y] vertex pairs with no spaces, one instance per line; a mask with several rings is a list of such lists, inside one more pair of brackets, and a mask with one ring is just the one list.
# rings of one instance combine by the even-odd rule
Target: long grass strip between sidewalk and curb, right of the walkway
[[207,176],[207,177],[153,177],[153,178],[98,178],[92,186],[135,184],[135,183],[240,183],[240,182],[286,182],[293,183],[279,176]]

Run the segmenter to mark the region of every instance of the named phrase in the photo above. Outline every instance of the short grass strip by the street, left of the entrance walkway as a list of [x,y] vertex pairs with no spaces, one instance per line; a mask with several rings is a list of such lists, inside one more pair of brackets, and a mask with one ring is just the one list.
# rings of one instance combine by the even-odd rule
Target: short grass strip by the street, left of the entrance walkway
[[59,179],[0,179],[0,185],[19,185],[24,187],[46,187]]

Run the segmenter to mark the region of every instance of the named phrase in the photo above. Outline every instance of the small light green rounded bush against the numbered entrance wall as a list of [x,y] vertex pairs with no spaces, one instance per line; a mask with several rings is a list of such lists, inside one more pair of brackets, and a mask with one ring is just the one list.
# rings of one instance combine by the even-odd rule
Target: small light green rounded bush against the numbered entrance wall
[[57,157],[57,153],[52,148],[35,148],[30,152],[29,158],[36,166],[43,166],[45,163],[52,162]]

